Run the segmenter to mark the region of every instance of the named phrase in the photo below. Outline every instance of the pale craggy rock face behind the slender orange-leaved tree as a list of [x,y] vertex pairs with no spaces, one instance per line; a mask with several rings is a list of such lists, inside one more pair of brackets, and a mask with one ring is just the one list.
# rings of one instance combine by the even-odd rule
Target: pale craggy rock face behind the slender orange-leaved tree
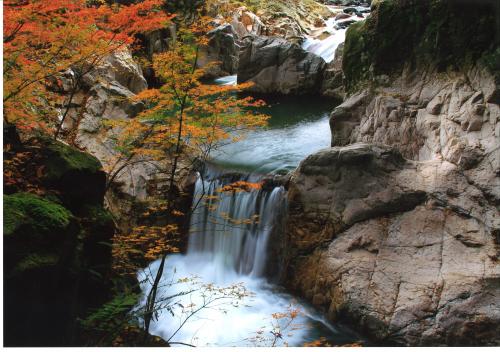
[[[71,74],[67,73],[63,80],[67,90]],[[121,130],[106,126],[105,122],[136,117],[144,107],[131,98],[146,89],[147,83],[128,50],[105,58],[82,80],[83,87],[74,95],[73,108],[69,110],[64,128],[76,132],[74,144],[99,159],[108,175],[121,170],[111,191],[106,194],[106,203],[120,229],[126,231],[138,217],[138,204],[154,201],[156,196],[163,197],[168,182],[161,170],[169,168],[156,162],[141,162],[140,157],[132,158],[125,165],[126,158],[120,159],[114,142]],[[189,189],[195,180],[189,177],[189,171],[183,169],[177,180],[176,187],[190,194]],[[179,202],[182,201],[189,208],[190,196],[180,197]]]

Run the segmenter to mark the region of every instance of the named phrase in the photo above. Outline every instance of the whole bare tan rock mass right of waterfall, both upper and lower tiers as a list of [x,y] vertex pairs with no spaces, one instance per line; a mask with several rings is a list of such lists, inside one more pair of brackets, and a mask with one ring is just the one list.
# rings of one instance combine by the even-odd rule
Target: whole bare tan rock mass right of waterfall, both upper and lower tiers
[[498,345],[498,86],[479,67],[380,79],[291,177],[287,282],[378,340]]

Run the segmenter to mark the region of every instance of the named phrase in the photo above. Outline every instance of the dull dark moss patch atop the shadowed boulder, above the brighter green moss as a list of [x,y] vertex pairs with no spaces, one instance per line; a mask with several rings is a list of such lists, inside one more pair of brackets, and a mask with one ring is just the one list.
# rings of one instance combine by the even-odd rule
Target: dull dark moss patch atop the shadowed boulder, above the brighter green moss
[[97,173],[101,163],[90,154],[83,153],[63,143],[51,141],[46,145],[48,158],[45,177],[57,180],[71,171]]

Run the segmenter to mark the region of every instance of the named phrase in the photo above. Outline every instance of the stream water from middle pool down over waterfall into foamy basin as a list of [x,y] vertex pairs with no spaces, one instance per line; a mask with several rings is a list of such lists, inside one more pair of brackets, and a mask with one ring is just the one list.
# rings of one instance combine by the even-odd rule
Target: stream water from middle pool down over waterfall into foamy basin
[[[236,76],[216,80],[220,85],[235,82]],[[266,277],[267,266],[276,265],[268,248],[273,234],[283,231],[286,190],[277,186],[221,192],[234,181],[254,183],[264,174],[293,170],[330,144],[328,115],[335,102],[266,101],[262,112],[271,116],[269,126],[213,153],[200,171],[188,250],[167,257],[158,294],[161,309],[150,327],[153,335],[220,347],[302,346],[320,337],[334,345],[360,340]],[[138,273],[144,293],[138,307],[144,306],[158,267],[155,261]]]

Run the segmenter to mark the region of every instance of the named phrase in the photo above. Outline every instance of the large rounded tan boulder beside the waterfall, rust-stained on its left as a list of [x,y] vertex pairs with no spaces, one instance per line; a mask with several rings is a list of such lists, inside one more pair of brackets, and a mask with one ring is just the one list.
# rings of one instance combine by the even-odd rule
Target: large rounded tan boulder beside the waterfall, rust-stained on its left
[[386,344],[498,345],[498,219],[452,163],[322,150],[290,180],[287,282]]

